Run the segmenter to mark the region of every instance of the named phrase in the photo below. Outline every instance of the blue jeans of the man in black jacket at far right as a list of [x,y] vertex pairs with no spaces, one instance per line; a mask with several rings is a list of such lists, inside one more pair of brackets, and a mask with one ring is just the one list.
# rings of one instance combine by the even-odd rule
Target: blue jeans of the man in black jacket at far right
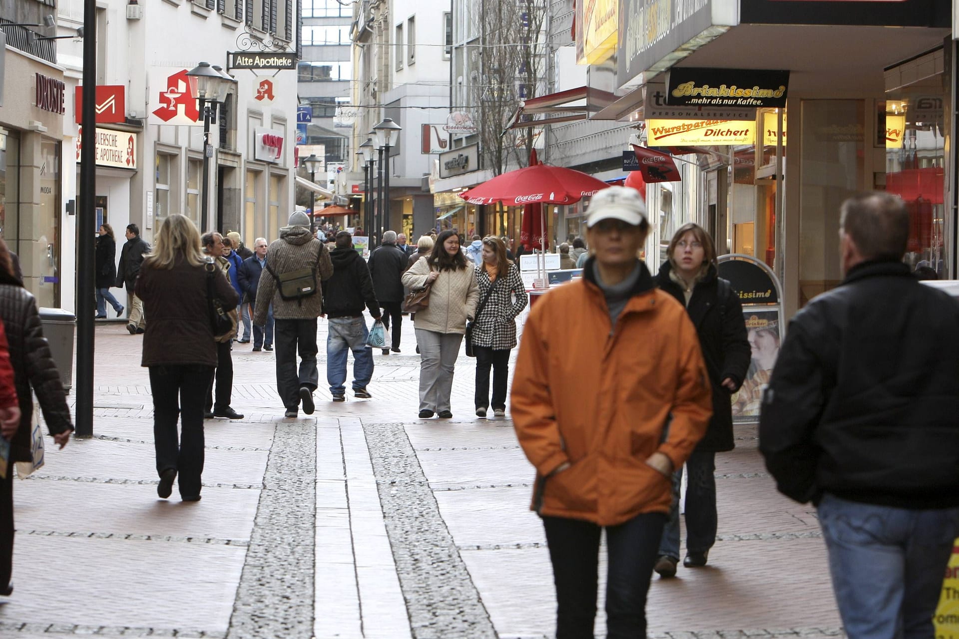
[[826,493],[819,523],[832,587],[850,639],[927,639],[959,508],[906,510]]

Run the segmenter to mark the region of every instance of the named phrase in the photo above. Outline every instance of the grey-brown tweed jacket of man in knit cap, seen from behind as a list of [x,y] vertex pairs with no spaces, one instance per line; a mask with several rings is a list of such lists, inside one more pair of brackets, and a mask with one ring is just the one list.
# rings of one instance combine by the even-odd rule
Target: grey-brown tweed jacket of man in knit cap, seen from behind
[[256,289],[253,324],[266,326],[270,303],[275,319],[316,319],[323,314],[323,295],[319,284],[333,275],[333,262],[330,262],[330,250],[326,244],[316,240],[310,229],[304,226],[282,229],[280,239],[274,240],[267,249],[267,264],[276,275],[302,268],[316,269],[316,294],[301,300],[284,300],[280,297],[276,278],[264,269]]

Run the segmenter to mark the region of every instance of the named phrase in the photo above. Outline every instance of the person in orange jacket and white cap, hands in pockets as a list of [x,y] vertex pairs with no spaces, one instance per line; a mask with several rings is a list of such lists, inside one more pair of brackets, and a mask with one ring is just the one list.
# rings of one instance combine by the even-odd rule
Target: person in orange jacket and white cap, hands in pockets
[[706,432],[712,391],[686,309],[636,257],[649,230],[639,194],[604,189],[587,214],[594,255],[581,281],[530,311],[512,415],[536,467],[531,508],[550,546],[556,637],[593,636],[603,528],[607,637],[643,637],[670,473]]

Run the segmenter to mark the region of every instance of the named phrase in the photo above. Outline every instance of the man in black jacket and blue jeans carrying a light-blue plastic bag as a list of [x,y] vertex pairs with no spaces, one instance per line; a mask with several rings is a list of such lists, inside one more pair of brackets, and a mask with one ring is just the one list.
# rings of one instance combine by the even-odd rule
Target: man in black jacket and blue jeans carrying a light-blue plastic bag
[[346,400],[346,352],[353,351],[353,394],[371,398],[366,385],[373,377],[373,354],[366,347],[363,307],[380,319],[380,305],[366,262],[353,248],[348,231],[337,234],[337,247],[330,253],[333,277],[323,282],[323,309],[328,326],[326,337],[326,380],[334,401]]

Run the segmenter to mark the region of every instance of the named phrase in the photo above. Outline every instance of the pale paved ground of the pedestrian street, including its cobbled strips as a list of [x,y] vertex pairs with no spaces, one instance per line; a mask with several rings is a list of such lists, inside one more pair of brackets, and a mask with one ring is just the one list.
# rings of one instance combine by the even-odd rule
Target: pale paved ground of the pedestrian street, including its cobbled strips
[[[15,482],[16,591],[0,599],[0,636],[551,637],[548,549],[512,423],[473,416],[465,355],[455,418],[416,419],[404,327],[402,354],[375,352],[373,399],[333,403],[321,387],[298,420],[283,419],[273,354],[237,344],[233,406],[246,417],[206,422],[203,499],[183,503],[156,498],[141,338],[98,325],[94,438],[48,448]],[[777,494],[756,446],[755,428],[739,428],[717,456],[710,565],[654,579],[651,636],[842,634],[815,513]]]

